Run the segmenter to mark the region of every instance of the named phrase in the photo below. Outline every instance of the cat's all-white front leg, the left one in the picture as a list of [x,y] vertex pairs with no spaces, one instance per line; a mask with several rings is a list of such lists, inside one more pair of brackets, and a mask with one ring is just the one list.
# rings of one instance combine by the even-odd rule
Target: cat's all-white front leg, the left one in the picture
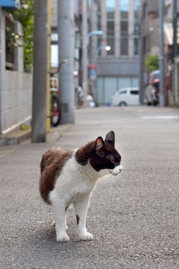
[[50,200],[52,202],[53,207],[53,215],[54,215],[54,224],[56,230],[56,240],[58,242],[67,242],[69,241],[69,237],[66,233],[66,203],[63,198],[60,198],[55,191],[52,191],[50,194]]

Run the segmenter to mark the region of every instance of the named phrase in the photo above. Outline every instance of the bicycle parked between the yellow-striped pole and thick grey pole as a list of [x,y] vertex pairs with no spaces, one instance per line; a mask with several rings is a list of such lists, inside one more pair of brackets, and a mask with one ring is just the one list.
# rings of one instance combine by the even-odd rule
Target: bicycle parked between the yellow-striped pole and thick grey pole
[[53,77],[57,74],[63,64],[67,65],[68,60],[61,61],[55,73],[50,74],[50,122],[53,126],[57,126],[61,119],[61,107],[58,101],[57,78]]

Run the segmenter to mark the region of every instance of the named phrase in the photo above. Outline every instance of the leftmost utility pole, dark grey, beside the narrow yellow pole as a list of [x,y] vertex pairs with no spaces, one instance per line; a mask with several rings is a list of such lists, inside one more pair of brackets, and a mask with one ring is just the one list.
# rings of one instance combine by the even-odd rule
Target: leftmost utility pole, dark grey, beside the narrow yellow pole
[[32,143],[46,141],[48,0],[34,3]]

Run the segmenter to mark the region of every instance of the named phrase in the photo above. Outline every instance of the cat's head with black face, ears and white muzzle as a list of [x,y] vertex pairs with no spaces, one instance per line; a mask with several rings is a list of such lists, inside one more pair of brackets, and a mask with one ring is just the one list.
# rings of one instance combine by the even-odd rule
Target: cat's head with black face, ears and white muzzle
[[105,140],[98,137],[92,150],[90,164],[96,171],[108,169],[113,175],[122,171],[121,155],[114,147],[115,135],[111,131],[107,134]]

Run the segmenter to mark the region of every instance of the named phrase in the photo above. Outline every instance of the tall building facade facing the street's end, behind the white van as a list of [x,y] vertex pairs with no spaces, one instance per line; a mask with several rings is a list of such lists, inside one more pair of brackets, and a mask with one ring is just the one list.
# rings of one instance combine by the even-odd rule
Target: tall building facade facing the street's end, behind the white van
[[111,49],[99,51],[97,57],[98,103],[110,102],[111,95],[124,87],[139,86],[138,27],[140,0],[98,1],[98,46]]

